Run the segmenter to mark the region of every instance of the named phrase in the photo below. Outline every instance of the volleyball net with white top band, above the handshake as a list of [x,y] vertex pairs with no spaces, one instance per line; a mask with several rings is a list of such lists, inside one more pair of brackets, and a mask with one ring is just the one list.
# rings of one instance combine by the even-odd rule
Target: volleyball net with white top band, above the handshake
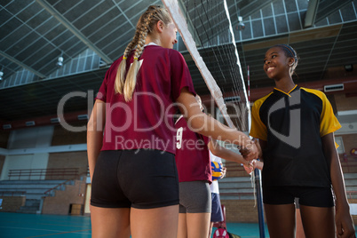
[[226,124],[250,130],[250,102],[226,0],[163,0]]

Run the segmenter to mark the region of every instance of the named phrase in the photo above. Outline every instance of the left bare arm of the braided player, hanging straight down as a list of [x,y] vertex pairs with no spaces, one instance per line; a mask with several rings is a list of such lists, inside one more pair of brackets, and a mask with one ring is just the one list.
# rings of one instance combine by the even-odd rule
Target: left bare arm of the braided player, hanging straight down
[[103,144],[103,130],[106,122],[105,102],[97,99],[87,124],[87,155],[91,178]]

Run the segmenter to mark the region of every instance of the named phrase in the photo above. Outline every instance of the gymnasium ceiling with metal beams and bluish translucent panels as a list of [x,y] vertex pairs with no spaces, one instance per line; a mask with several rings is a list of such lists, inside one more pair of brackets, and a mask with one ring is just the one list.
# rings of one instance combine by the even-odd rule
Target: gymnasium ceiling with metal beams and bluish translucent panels
[[[194,0],[192,0],[194,1]],[[218,0],[217,0],[218,1]],[[197,3],[200,2],[197,0]],[[357,64],[357,0],[227,0],[242,67],[250,66],[250,88],[272,86],[262,70],[266,48],[291,44],[299,53],[300,83],[355,81],[345,66]],[[73,91],[98,91],[107,67],[131,40],[139,15],[155,0],[2,0],[0,3],[0,123],[56,115],[59,100]],[[315,8],[313,8],[315,6]],[[315,11],[313,11],[315,9]],[[312,14],[311,14],[312,12]],[[311,15],[310,15],[311,14]],[[240,31],[238,16],[245,28]],[[307,24],[306,15],[313,16]],[[178,50],[182,50],[182,41]],[[64,64],[90,49],[100,67],[81,74],[51,78]],[[186,51],[182,51],[184,55]],[[192,60],[194,86],[208,94]],[[355,72],[356,68],[354,68]],[[12,75],[28,71],[30,83],[9,83]],[[244,78],[246,70],[243,69]],[[355,74],[354,74],[355,75]],[[6,80],[8,80],[6,85]],[[10,86],[9,86],[10,85]],[[66,103],[66,112],[85,111],[88,99]]]

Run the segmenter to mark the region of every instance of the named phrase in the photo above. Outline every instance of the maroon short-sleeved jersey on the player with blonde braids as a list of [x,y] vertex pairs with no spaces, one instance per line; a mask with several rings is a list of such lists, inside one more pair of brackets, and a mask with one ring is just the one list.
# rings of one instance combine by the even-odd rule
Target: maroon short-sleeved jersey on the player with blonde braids
[[[133,60],[127,59],[127,71]],[[175,154],[174,102],[182,88],[194,95],[194,85],[183,56],[172,49],[148,45],[139,58],[141,67],[132,100],[115,93],[121,60],[107,70],[97,98],[106,102],[106,128],[102,150],[152,148]]]

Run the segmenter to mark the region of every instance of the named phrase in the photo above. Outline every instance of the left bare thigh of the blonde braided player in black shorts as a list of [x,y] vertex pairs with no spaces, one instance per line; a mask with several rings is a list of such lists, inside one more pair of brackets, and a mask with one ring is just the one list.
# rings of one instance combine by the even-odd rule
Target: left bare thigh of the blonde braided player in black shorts
[[91,237],[129,238],[130,209],[109,209],[91,206]]

